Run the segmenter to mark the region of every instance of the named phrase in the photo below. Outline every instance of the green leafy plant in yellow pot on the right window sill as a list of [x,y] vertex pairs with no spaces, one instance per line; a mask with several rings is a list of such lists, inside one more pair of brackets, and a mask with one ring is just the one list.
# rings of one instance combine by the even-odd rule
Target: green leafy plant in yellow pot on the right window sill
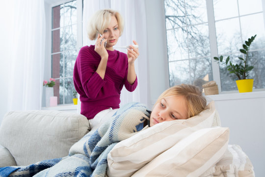
[[255,37],[257,35],[252,36],[251,38],[248,38],[247,41],[245,41],[245,44],[243,44],[243,49],[240,49],[239,51],[245,55],[245,58],[238,57],[239,63],[233,64],[230,61],[229,56],[224,60],[223,56],[213,57],[215,61],[221,62],[224,65],[226,65],[227,70],[229,73],[233,73],[238,77],[237,86],[239,93],[241,92],[250,92],[253,89],[253,81],[254,79],[247,79],[249,76],[249,72],[254,68],[254,66],[249,66],[247,64],[248,61],[248,52],[251,43],[254,41]]

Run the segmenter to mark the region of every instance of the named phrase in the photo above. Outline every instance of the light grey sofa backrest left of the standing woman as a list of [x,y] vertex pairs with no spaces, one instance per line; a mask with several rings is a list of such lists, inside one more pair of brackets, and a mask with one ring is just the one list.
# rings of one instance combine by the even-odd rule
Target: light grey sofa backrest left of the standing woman
[[86,117],[62,111],[12,111],[2,119],[0,145],[17,165],[67,156],[90,130]]

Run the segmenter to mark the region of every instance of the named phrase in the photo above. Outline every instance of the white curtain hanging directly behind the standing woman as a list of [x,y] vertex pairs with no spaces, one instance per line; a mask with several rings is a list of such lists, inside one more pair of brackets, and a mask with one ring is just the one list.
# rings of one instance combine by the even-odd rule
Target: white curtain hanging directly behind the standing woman
[[[144,0],[84,0],[83,1],[83,45],[94,45],[87,37],[87,22],[92,14],[100,9],[111,8],[121,13],[124,19],[124,32],[116,46],[133,44],[135,40],[139,44],[139,57],[135,61],[135,72],[138,78],[138,86],[133,92],[123,88],[121,92],[121,105],[128,102],[141,102],[147,105],[147,32]],[[126,53],[126,49],[121,49]]]

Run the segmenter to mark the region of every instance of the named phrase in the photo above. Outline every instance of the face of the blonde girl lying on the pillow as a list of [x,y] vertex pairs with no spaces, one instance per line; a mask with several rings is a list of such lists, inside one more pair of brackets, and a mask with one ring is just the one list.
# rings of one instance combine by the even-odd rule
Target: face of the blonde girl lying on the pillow
[[158,102],[150,116],[150,126],[163,121],[187,119],[188,108],[184,96],[171,96]]

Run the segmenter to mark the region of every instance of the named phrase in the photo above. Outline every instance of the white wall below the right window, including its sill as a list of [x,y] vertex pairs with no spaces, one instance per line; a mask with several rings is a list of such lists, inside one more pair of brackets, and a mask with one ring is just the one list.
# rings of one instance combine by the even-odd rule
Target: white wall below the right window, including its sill
[[229,144],[237,144],[250,158],[256,177],[265,174],[265,91],[207,96],[214,100]]

